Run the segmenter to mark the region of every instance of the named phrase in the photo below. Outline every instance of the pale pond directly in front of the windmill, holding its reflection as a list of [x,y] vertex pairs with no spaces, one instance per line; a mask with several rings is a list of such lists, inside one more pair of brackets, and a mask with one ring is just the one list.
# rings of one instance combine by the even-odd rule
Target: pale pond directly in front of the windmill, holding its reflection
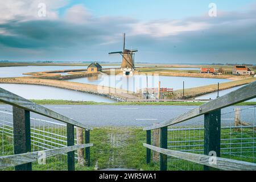
[[[148,81],[147,81],[148,80]],[[100,75],[97,80],[94,78],[75,78],[68,80],[72,82],[80,82],[85,84],[94,84],[102,86],[111,86],[113,88],[125,89],[133,92],[137,92],[138,89],[146,88],[148,82],[148,88],[157,88],[158,81],[161,82],[162,88],[174,88],[174,90],[183,88],[183,81],[185,81],[185,88],[193,88],[197,86],[204,86],[210,84],[217,84],[218,82],[227,82],[227,79],[217,78],[192,78],[192,77],[173,77],[173,76],[153,76],[149,75],[134,75],[134,76],[122,76],[122,75]]]

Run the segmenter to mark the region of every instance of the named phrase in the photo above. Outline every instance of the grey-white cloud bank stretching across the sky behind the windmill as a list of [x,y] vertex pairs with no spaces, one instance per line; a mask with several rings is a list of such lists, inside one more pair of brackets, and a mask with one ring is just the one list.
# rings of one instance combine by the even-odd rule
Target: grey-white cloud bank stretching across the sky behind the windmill
[[[108,52],[122,49],[123,32],[127,48],[139,49],[138,61],[205,63],[256,57],[256,8],[244,13],[218,11],[216,18],[204,14],[144,22],[96,17],[84,5],[69,7],[60,16],[58,9],[68,5],[64,0],[15,1],[15,5],[6,1],[0,2],[0,59],[117,61],[119,57],[108,57]],[[46,18],[38,17],[38,2],[46,3]]]

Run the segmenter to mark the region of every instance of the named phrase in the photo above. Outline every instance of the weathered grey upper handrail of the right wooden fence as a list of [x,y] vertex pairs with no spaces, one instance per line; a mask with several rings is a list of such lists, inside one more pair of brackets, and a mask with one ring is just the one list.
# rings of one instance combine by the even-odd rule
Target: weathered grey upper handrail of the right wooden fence
[[144,127],[143,130],[153,130],[153,129],[158,129],[164,126],[175,125],[177,123],[187,121],[188,119],[192,119],[200,115],[207,114],[212,111],[222,109],[224,107],[228,107],[230,105],[234,105],[243,101],[250,100],[251,98],[256,97],[255,89],[256,89],[256,81],[246,86],[243,86],[242,88],[237,89],[233,92],[230,92],[225,96],[218,97],[216,98],[216,100],[207,102],[206,104],[203,104],[195,109],[192,109],[187,113],[181,114],[176,118],[172,118],[166,122],[159,123],[158,125],[155,125],[155,126]]

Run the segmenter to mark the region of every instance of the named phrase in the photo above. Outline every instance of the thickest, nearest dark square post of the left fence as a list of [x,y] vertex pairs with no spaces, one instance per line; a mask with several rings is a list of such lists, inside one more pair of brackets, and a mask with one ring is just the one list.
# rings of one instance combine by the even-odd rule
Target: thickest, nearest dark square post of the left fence
[[[30,111],[13,106],[14,154],[31,152]],[[32,163],[15,167],[16,171],[31,171]]]

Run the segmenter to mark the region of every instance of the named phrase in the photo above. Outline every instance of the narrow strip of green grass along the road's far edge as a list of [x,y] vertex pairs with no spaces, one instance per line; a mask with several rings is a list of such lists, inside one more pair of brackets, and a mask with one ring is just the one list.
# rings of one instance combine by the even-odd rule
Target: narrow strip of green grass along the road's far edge
[[[31,100],[36,104],[44,105],[202,105],[205,102],[93,102],[93,101],[65,101],[65,100]],[[241,102],[237,105],[256,105],[256,102]]]

